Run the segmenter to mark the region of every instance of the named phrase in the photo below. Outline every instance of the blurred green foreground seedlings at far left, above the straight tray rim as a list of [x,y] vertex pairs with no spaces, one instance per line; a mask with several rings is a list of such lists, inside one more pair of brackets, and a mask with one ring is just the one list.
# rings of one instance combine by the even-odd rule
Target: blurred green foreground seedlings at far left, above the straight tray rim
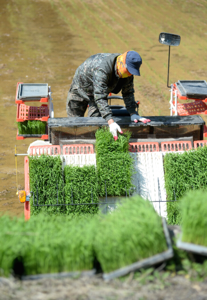
[[0,217],[0,268],[9,275],[20,257],[24,274],[78,271],[93,268],[93,227],[90,219],[45,214]]

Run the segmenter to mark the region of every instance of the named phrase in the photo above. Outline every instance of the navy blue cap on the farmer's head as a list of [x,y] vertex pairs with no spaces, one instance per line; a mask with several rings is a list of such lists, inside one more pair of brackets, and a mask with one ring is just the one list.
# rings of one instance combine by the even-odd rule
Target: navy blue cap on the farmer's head
[[126,66],[129,73],[140,76],[139,68],[142,64],[142,59],[136,51],[129,51],[126,55]]

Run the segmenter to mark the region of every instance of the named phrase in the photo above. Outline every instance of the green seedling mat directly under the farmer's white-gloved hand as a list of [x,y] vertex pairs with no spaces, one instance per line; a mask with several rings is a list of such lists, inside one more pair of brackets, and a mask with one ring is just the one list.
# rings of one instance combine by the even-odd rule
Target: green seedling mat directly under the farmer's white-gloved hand
[[96,165],[99,195],[125,196],[132,185],[133,158],[129,154],[130,133],[118,134],[114,141],[108,128],[96,131]]

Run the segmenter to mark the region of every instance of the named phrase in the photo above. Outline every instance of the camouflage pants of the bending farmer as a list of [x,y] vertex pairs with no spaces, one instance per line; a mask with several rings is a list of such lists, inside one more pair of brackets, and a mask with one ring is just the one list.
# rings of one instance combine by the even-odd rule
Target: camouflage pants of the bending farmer
[[[75,88],[74,80],[67,96],[66,111],[68,117],[84,117],[88,107],[88,117],[101,117],[96,103],[89,99],[84,99]],[[89,105],[89,106],[88,106]]]

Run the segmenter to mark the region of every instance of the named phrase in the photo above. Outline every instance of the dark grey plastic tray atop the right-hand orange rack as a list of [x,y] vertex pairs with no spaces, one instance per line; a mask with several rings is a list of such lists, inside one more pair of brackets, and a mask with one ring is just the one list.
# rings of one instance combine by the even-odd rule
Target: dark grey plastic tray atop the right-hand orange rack
[[182,96],[188,98],[207,98],[207,83],[206,80],[178,80],[176,82]]

